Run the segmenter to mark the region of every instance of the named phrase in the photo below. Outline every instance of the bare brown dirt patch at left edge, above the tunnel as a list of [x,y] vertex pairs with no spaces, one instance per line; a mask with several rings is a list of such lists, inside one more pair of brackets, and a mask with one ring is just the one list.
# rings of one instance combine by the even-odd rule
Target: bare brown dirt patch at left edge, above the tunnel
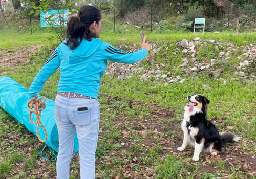
[[[37,44],[36,46],[28,46],[22,47],[17,51],[8,51],[1,50],[0,51],[0,68],[8,67],[8,68],[18,68],[18,66],[22,65],[25,61],[28,60],[28,57],[33,53],[39,51],[42,45]],[[0,72],[2,75],[3,72]]]

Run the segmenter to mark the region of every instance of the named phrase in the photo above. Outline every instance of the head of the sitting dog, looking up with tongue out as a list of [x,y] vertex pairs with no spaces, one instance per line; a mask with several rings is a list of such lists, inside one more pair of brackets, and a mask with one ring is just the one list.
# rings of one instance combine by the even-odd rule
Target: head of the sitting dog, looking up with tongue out
[[210,101],[202,95],[189,95],[187,97],[189,103],[186,104],[184,110],[189,113],[204,113],[206,114],[207,105]]

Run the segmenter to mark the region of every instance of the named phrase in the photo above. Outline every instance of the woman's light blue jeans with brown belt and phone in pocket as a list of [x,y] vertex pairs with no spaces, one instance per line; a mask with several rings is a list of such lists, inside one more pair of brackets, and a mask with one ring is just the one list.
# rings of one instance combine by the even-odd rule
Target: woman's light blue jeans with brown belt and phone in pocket
[[54,103],[59,135],[57,179],[69,179],[75,131],[79,143],[81,179],[94,179],[100,119],[99,102],[96,99],[57,95]]

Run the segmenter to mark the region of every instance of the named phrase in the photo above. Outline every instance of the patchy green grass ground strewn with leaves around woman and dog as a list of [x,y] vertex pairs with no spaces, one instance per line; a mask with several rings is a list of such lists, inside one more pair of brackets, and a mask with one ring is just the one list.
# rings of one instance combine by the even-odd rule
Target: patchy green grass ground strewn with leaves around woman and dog
[[[104,24],[105,25],[105,24]],[[126,50],[139,48],[140,44],[130,47],[132,42],[141,42],[137,30],[126,32],[124,27],[117,33],[107,32],[110,24],[106,23],[101,39],[116,46],[119,43],[129,47]],[[53,49],[54,37],[51,32],[36,31],[16,32],[15,30],[0,30],[0,53],[7,50],[15,51],[22,46],[46,44],[45,48],[28,57],[17,69],[0,68],[5,70],[6,76],[12,77],[18,83],[29,88],[42,64],[49,58]],[[126,32],[126,33],[123,33]],[[161,50],[140,63],[146,71],[160,66],[162,74],[170,72],[170,77],[181,76],[184,83],[165,84],[164,80],[151,77],[148,81],[141,81],[143,72],[134,73],[131,78],[118,80],[116,76],[102,77],[99,102],[101,103],[101,121],[98,148],[96,151],[96,178],[255,178],[253,170],[246,170],[244,163],[225,161],[225,156],[210,158],[202,153],[199,162],[191,161],[193,149],[178,152],[176,147],[182,140],[180,122],[183,107],[190,94],[200,93],[209,100],[208,118],[214,122],[219,130],[224,131],[232,126],[233,133],[243,138],[239,144],[228,145],[228,155],[233,160],[239,156],[236,150],[255,157],[256,137],[256,105],[255,82],[246,81],[235,76],[236,66],[244,59],[242,50],[231,51],[230,59],[221,61],[219,52],[212,44],[196,46],[196,58],[201,62],[209,62],[215,58],[219,60],[215,69],[224,68],[223,73],[213,78],[203,72],[186,74],[180,67],[182,59],[187,55],[176,46],[175,40],[183,38],[194,39],[190,32],[154,32],[145,31],[147,40],[159,42],[157,48]],[[11,39],[12,40],[3,40]],[[126,38],[126,41],[118,41]],[[206,33],[201,39],[221,40],[219,51],[227,53],[228,43],[235,46],[255,44],[255,33],[244,33],[239,36],[229,32],[220,34]],[[164,41],[162,41],[164,40]],[[247,42],[245,42],[247,41]],[[174,52],[177,55],[174,55]],[[251,60],[251,59],[249,59]],[[164,66],[159,64],[164,64]],[[192,64],[189,67],[192,66]],[[253,64],[252,64],[253,65]],[[250,66],[253,69],[253,66]],[[247,75],[255,72],[244,71]],[[59,71],[45,83],[40,95],[54,100],[57,92]],[[224,81],[226,83],[224,84]],[[125,136],[125,133],[128,135]],[[124,137],[125,136],[125,137]],[[14,118],[0,109],[0,177],[1,178],[51,178],[56,174],[56,163],[46,162],[40,158],[40,150],[44,146],[37,138],[27,131]],[[236,149],[236,150],[235,150]],[[49,153],[50,152],[46,151]],[[245,156],[245,155],[243,155]],[[247,155],[246,155],[247,156]],[[79,163],[76,156],[71,162],[71,177],[79,178]],[[232,166],[232,165],[234,166]]]

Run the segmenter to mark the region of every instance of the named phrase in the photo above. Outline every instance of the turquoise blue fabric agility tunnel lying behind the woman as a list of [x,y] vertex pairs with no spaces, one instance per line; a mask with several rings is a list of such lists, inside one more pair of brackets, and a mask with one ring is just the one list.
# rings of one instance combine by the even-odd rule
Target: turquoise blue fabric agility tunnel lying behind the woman
[[[12,78],[6,76],[0,77],[0,106],[36,135],[37,125],[29,121],[27,93],[28,90]],[[38,95],[38,98],[40,97],[41,96]],[[32,114],[32,120],[37,120],[34,114]],[[54,101],[48,98],[46,100],[46,108],[41,113],[41,122],[46,128],[48,136],[45,143],[58,152],[58,130],[54,119]],[[42,140],[45,139],[45,132],[41,126],[39,127],[39,136]],[[78,139],[76,134],[74,139],[74,151],[78,151]]]

